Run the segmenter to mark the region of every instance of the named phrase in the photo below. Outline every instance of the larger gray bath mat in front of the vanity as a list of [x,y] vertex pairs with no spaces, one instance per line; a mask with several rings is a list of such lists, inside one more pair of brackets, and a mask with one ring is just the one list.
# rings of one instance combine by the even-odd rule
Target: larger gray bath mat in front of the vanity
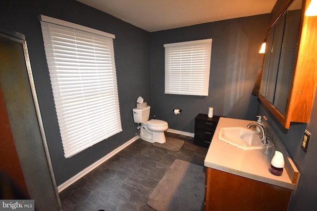
[[204,167],[175,160],[150,194],[157,211],[201,211],[205,197]]

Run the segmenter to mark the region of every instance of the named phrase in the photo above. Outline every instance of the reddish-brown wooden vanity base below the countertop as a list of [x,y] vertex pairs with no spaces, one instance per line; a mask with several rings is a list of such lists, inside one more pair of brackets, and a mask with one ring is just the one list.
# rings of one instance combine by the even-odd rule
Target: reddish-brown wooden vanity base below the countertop
[[207,168],[205,211],[286,211],[291,189]]

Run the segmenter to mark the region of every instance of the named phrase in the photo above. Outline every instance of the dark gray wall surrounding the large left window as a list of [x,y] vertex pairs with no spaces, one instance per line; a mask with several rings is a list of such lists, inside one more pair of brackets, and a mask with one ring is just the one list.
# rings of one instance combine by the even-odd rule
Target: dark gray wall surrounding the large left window
[[[114,55],[123,131],[68,159],[63,156],[38,19],[40,14],[111,33],[116,37]],[[2,0],[0,26],[25,35],[57,185],[135,136],[132,109],[136,107],[137,97],[143,96],[151,104],[149,32],[76,0]]]

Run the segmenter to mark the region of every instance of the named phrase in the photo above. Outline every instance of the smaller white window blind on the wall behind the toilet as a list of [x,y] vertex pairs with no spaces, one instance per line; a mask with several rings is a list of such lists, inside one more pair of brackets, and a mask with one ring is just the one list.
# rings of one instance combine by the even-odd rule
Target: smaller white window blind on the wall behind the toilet
[[164,44],[165,94],[208,96],[212,39]]

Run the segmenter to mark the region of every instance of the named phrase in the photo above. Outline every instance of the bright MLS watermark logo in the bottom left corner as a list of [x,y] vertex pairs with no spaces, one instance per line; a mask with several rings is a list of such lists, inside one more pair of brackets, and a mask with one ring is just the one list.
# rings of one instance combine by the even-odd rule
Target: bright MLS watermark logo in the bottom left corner
[[34,211],[34,200],[0,200],[0,211]]

